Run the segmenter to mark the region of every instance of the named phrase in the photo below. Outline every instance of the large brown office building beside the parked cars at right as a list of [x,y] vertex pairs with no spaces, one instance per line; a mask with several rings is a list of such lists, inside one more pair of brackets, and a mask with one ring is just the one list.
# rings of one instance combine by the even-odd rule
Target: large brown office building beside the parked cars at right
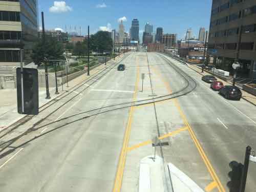
[[256,1],[212,1],[208,49],[217,68],[232,75],[238,60],[238,76],[256,78],[255,18]]

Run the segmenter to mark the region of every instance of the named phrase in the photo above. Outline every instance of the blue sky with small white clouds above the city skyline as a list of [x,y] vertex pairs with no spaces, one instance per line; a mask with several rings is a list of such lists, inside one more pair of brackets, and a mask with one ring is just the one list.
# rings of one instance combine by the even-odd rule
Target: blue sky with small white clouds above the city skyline
[[[164,33],[177,33],[183,38],[186,29],[192,28],[198,36],[200,27],[209,27],[211,0],[38,0],[38,11],[45,13],[46,29],[70,27],[82,34],[90,25],[92,33],[98,30],[118,29],[118,19],[124,19],[125,31],[129,31],[133,18],[138,18],[141,32],[146,22],[153,24],[154,31],[162,27]],[[39,14],[41,15],[41,14]],[[39,16],[41,26],[41,17]]]

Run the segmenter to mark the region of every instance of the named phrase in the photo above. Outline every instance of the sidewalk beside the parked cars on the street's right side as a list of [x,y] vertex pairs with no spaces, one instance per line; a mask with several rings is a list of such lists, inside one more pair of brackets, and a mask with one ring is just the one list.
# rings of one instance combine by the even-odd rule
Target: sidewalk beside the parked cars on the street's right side
[[[204,73],[202,73],[202,68],[199,68],[199,67],[197,67],[197,66],[191,65],[191,64],[189,64],[189,63],[187,63],[187,64],[188,64],[188,67],[189,67],[190,69],[196,71],[197,73],[199,73],[199,74],[202,75],[202,76],[203,76],[203,75],[212,75],[212,74],[207,73],[207,72],[205,72],[205,71],[204,71]],[[223,81],[222,79],[220,79],[220,78],[218,78],[218,77],[216,77],[216,78],[218,79],[218,81],[222,81],[223,84],[224,84],[224,86],[230,86],[230,85],[231,85],[230,82]],[[245,99],[246,101],[248,101],[248,102],[250,102],[251,104],[253,104],[253,105],[256,106],[256,97],[255,97],[254,95],[251,95],[251,94],[249,94],[248,92],[243,91],[242,89],[241,89],[241,92],[242,92],[242,98],[243,98],[243,99]]]

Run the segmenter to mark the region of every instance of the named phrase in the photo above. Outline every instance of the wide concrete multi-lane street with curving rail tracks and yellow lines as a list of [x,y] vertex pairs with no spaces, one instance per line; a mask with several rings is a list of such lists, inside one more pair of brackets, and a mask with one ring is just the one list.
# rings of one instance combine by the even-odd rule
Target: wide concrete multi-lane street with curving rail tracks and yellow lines
[[[155,137],[165,164],[206,191],[228,191],[229,162],[243,162],[247,145],[256,149],[255,106],[226,100],[160,53],[126,53],[75,89],[0,133],[1,191],[137,191]],[[255,190],[255,176],[251,163],[246,191]]]

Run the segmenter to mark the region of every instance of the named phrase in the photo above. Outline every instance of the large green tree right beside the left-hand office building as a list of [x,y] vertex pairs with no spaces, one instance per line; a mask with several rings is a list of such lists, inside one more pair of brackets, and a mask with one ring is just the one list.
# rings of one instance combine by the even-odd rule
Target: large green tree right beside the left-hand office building
[[39,38],[32,49],[31,58],[35,65],[40,66],[47,60],[63,59],[62,44],[54,37],[46,36],[45,42]]

